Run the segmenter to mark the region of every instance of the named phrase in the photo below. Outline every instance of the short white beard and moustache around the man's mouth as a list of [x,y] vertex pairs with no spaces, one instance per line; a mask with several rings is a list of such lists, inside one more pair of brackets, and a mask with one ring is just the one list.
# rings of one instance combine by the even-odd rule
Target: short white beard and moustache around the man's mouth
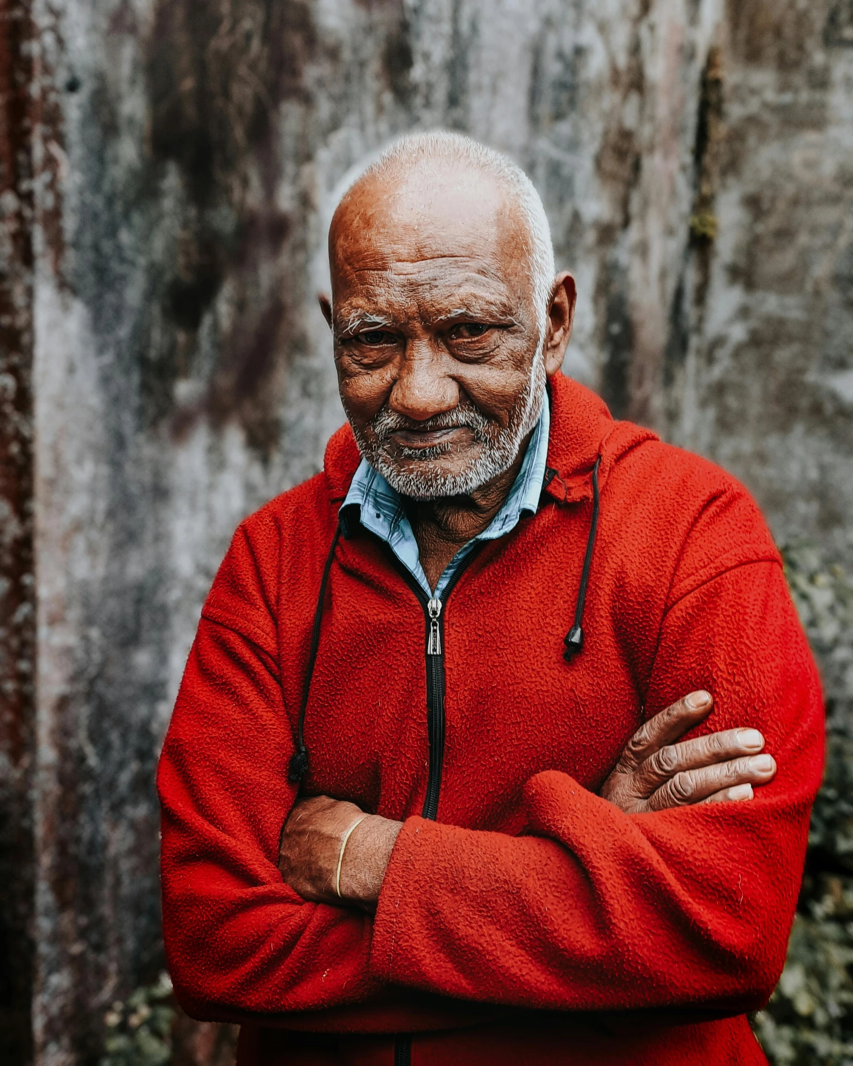
[[[370,440],[353,425],[358,450],[365,459],[383,475],[391,488],[401,496],[415,500],[436,500],[452,496],[469,496],[474,489],[493,481],[504,473],[515,462],[521,441],[530,433],[542,414],[545,402],[545,360],[541,343],[518,403],[513,408],[505,430],[496,430],[495,423],[485,417],[471,403],[454,407],[444,415],[423,422],[414,422],[403,415],[384,406],[370,423]],[[473,433],[474,440],[481,445],[480,454],[468,467],[458,473],[442,473],[432,465],[442,455],[447,455],[452,445],[435,445],[432,448],[399,449],[400,454],[418,464],[423,469],[411,472],[403,471],[397,465],[397,459],[385,450],[391,433],[398,430],[418,429],[420,431],[448,430],[455,426],[466,426]]]

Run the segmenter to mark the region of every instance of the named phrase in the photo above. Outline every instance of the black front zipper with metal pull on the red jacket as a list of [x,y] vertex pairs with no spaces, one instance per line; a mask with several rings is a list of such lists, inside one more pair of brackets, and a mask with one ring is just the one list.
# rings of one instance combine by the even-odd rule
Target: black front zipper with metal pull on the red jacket
[[426,776],[426,795],[421,818],[435,821],[438,812],[438,794],[441,791],[441,770],[445,763],[445,604],[460,578],[477,554],[473,548],[456,568],[445,587],[445,598],[428,596],[417,579],[400,562],[390,548],[388,552],[395,567],[417,596],[423,609],[426,626],[424,658],[426,660],[426,736],[430,740],[430,770]]

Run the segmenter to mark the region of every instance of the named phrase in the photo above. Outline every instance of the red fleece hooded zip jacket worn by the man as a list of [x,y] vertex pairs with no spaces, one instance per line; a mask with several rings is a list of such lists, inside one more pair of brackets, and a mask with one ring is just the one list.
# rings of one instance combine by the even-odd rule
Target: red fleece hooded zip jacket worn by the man
[[[765,1062],[743,1012],[783,966],[822,762],[779,556],[710,463],[562,375],[551,411],[538,513],[476,554],[442,612],[435,821],[419,817],[423,608],[371,534],[338,545],[303,790],[404,820],[375,918],[304,902],[276,866],[320,577],[358,464],[349,427],[322,473],[235,535],[159,787],[178,998],[243,1020],[245,1063],[391,1062],[393,1033],[416,1034],[417,1064]],[[585,646],[566,663],[597,455]],[[599,798],[643,718],[699,688],[714,711],[697,732],[757,727],[774,781],[654,814]]]

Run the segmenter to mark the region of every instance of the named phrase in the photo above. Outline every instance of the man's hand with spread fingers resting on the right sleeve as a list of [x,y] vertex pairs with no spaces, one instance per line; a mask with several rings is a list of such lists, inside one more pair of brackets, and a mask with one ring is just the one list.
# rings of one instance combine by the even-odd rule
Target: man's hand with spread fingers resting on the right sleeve
[[726,729],[676,744],[707,717],[713,700],[692,692],[649,718],[625,745],[600,795],[627,814],[724,800],[752,800],[776,773],[757,729]]

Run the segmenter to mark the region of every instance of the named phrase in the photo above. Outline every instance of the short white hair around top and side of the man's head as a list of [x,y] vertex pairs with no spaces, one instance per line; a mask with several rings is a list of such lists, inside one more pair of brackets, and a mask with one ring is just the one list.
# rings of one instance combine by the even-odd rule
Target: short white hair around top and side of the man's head
[[337,210],[347,193],[363,178],[384,178],[401,164],[411,166],[422,160],[447,161],[480,171],[495,178],[510,192],[527,224],[528,240],[525,253],[533,282],[533,302],[538,319],[540,339],[544,339],[554,278],[551,230],[535,185],[509,156],[480,144],[463,133],[451,133],[447,130],[406,133],[367,160],[363,160],[344,176],[335,190],[334,210]]

